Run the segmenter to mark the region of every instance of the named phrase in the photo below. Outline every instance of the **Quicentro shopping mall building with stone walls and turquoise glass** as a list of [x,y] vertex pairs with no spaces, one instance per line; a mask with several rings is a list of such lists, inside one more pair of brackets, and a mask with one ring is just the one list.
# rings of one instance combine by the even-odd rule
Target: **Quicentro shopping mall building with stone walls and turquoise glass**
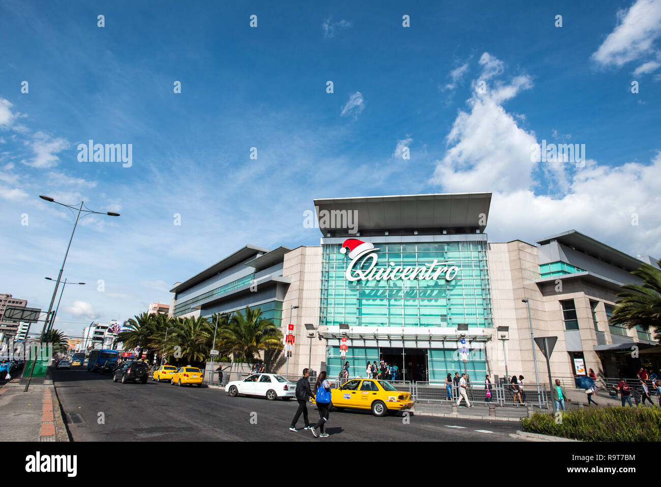
[[557,337],[555,376],[659,369],[661,347],[648,333],[609,324],[619,285],[640,283],[630,272],[651,257],[576,230],[535,244],[489,242],[490,202],[491,193],[315,200],[319,246],[246,245],[177,283],[171,312],[259,306],[283,334],[293,324],[290,374],[311,365],[335,377],[348,361],[351,376],[364,376],[368,361],[383,359],[405,380],[466,369],[473,381],[521,374],[534,382],[536,360],[547,382],[531,330]]

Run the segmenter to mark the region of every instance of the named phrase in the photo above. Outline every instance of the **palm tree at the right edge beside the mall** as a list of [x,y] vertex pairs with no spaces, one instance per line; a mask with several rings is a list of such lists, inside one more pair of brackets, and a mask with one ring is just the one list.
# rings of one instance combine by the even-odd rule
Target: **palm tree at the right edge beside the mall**
[[[661,260],[657,265],[661,266]],[[615,301],[615,311],[611,316],[611,324],[625,325],[627,328],[638,326],[640,330],[649,332],[654,329],[654,339],[661,343],[661,270],[653,265],[642,264],[631,274],[642,279],[642,285],[625,284],[621,288],[627,292],[619,292]]]

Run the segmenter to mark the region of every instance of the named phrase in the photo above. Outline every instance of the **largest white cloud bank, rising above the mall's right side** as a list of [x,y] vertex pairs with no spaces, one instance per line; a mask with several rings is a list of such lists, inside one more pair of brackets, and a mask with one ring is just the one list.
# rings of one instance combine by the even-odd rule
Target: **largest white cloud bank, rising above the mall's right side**
[[[498,64],[493,58],[490,63]],[[535,133],[520,128],[500,105],[531,81],[515,77],[494,85],[485,93],[475,91],[471,110],[457,115],[433,179],[447,192],[493,191],[489,240],[534,242],[574,228],[631,255],[661,257],[661,152],[649,164],[619,167],[592,159],[575,167],[562,157],[531,162]],[[555,129],[553,136],[570,137]],[[535,188],[546,194],[535,194]]]

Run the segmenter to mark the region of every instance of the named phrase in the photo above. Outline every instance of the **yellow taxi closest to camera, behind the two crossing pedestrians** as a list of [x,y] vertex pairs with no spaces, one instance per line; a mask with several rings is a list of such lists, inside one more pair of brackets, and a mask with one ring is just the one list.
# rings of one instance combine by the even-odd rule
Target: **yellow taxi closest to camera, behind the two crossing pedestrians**
[[362,378],[331,389],[331,403],[340,411],[344,408],[371,410],[374,416],[410,409],[414,404],[410,392],[395,389],[387,380]]

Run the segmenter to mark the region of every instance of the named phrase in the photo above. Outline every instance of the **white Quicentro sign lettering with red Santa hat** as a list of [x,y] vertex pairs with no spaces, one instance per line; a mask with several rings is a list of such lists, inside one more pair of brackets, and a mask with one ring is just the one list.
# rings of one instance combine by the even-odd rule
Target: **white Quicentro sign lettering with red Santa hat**
[[[374,245],[363,242],[357,238],[344,240],[340,253],[346,253],[349,249],[350,264],[346,268],[345,277],[347,281],[436,281],[443,276],[446,281],[454,279],[461,270],[454,262],[439,262],[434,259],[433,263],[425,264],[424,267],[376,267],[379,256]],[[367,266],[366,269],[364,267]]]

